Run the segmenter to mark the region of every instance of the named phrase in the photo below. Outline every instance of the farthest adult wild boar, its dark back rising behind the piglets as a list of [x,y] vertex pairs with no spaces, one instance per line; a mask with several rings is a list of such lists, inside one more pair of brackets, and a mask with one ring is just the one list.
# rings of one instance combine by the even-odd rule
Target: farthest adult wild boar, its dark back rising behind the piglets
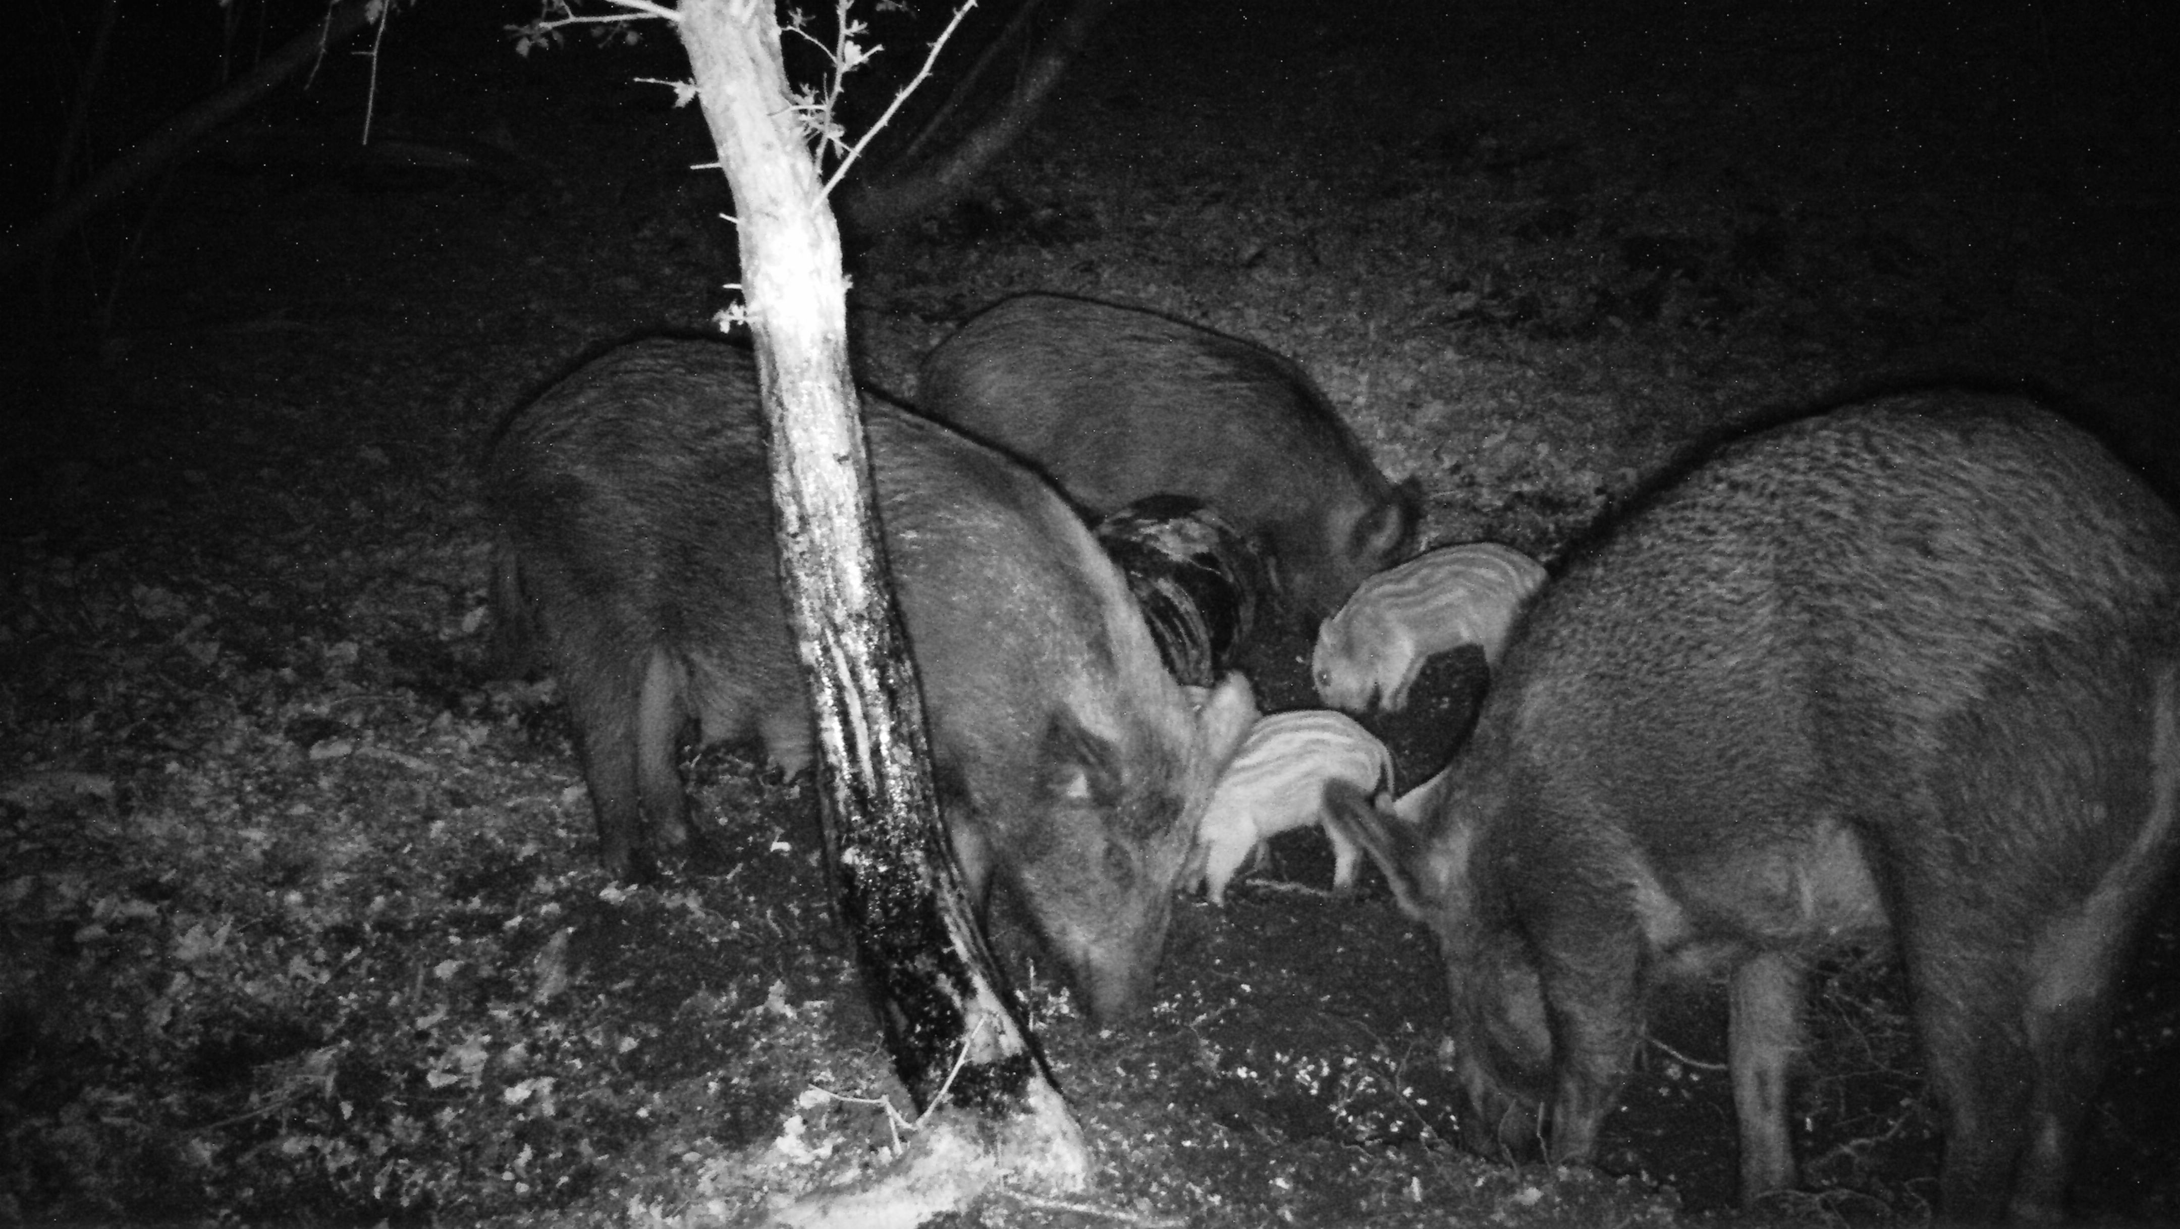
[[1339,610],[1415,538],[1310,377],[1264,346],[1151,312],[1022,294],[924,360],[918,410],[1036,464],[1094,516],[1188,495],[1267,543],[1301,619]]

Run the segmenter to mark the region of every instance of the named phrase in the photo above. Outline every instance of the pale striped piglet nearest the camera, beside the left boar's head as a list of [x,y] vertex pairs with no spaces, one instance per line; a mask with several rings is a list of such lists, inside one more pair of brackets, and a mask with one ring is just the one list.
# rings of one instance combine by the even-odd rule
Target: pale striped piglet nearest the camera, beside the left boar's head
[[[1306,708],[1260,719],[1212,787],[1182,883],[1201,883],[1212,904],[1225,904],[1227,880],[1264,841],[1319,824],[1332,780],[1391,804],[1393,756],[1343,713]],[[1332,839],[1332,887],[1345,891],[1356,883],[1356,845],[1332,828],[1325,835]]]

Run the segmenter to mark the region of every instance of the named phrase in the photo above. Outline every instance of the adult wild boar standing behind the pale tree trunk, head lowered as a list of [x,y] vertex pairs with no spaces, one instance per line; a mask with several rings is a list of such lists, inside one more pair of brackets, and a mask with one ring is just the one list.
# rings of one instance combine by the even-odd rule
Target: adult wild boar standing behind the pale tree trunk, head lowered
[[[1190,697],[1075,512],[1007,458],[865,397],[879,512],[964,883],[1014,889],[1092,1015],[1147,998],[1247,680]],[[752,357],[617,349],[523,407],[486,462],[495,604],[576,723],[606,867],[687,841],[676,745],[813,756],[772,536]],[[1201,699],[1201,713],[1195,699]]]

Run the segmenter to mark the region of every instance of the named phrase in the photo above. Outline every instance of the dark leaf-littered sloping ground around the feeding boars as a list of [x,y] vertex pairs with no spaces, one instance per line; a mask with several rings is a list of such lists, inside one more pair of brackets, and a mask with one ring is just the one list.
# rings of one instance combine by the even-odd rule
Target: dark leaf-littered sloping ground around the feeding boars
[[[1127,9],[977,203],[857,253],[859,360],[909,388],[1029,288],[1175,312],[1299,357],[1424,479],[1432,538],[1543,558],[1692,440],[1873,370],[2043,375],[2169,475],[2171,48],[2121,7],[2038,15]],[[0,1222],[704,1220],[759,1198],[743,1148],[889,1140],[807,1092],[892,1092],[807,791],[708,752],[693,791],[743,856],[617,889],[549,686],[484,678],[482,440],[580,353],[702,327],[730,203],[685,170],[700,122],[628,83],[678,74],[663,50],[519,61],[440,20],[382,122],[482,142],[488,174],[207,159],[96,362],[9,375]],[[353,131],[358,98],[336,74],[270,118]],[[1275,706],[1301,652],[1249,662]],[[1445,658],[1384,726],[1406,780],[1480,682]],[[1184,906],[1140,1029],[1083,1029],[1012,944],[1103,1185],[968,1220],[1731,1198],[1716,1005],[1657,1020],[1602,1157],[1626,1177],[1476,1161],[1421,935],[1310,891],[1308,835],[1275,854],[1304,887]],[[2128,1220],[2180,1218],[2180,909],[2152,930],[2080,1183]],[[1818,1018],[1818,1192],[1779,1216],[1921,1216],[1897,989],[1842,968]]]

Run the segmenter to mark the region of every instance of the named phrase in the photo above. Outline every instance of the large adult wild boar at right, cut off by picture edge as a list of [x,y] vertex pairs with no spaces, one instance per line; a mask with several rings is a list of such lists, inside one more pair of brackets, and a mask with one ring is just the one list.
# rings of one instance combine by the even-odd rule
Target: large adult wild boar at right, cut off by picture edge
[[1328,822],[1439,939],[1485,1142],[1548,1105],[1587,1157],[1646,981],[1722,965],[1742,1194],[1792,1185],[1801,970],[1890,933],[1942,1212],[2049,1220],[2180,845],[2176,617],[2180,519],[2080,429],[1849,405],[1659,488],[1537,597],[1452,765]]

